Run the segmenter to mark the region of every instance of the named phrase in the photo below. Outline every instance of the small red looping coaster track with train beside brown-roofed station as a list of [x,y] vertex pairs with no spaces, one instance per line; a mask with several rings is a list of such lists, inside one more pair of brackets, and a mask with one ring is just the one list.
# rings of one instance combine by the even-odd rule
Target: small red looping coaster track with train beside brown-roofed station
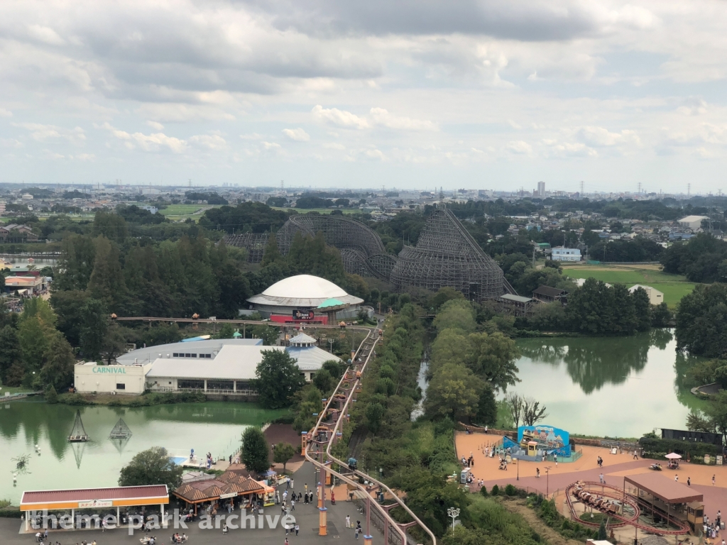
[[579,518],[576,512],[575,504],[583,504],[590,507],[594,511],[601,512],[611,517],[616,522],[608,524],[609,528],[622,528],[623,526],[635,526],[639,530],[647,533],[660,534],[662,536],[679,536],[690,531],[686,522],[671,517],[669,514],[660,516],[667,519],[667,525],[673,525],[678,529],[669,530],[668,528],[659,528],[639,521],[642,509],[641,506],[651,508],[646,502],[640,500],[636,496],[627,494],[621,488],[614,485],[606,485],[595,483],[595,481],[576,481],[566,487],[566,501],[571,511],[571,516],[580,524],[598,528],[600,522],[590,522]]

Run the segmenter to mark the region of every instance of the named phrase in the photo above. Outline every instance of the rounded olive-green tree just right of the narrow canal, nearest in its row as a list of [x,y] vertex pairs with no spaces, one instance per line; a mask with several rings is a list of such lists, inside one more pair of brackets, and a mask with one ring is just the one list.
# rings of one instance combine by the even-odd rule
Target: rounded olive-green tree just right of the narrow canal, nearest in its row
[[455,421],[475,416],[483,387],[482,380],[464,365],[446,363],[429,382],[425,413],[432,417],[449,416]]

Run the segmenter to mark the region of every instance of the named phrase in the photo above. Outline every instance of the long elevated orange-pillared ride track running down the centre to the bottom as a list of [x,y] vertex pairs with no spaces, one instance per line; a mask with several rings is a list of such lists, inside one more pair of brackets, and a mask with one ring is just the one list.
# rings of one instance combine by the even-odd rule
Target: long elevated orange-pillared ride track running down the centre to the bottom
[[[356,488],[359,496],[366,498],[365,545],[371,545],[371,509],[376,509],[379,518],[383,521],[384,545],[390,543],[398,545],[416,543],[411,536],[407,535],[406,529],[417,525],[430,536],[432,545],[436,545],[437,539],[432,531],[419,520],[416,514],[411,512],[411,509],[387,485],[373,477],[369,477],[369,475],[355,467],[349,467],[347,462],[335,458],[331,453],[333,445],[342,439],[343,424],[348,422],[348,410],[350,405],[356,401],[356,395],[361,392],[361,376],[366,372],[374,347],[376,347],[379,340],[381,340],[380,332],[371,330],[361,346],[358,347],[351,365],[346,369],[333,395],[324,400],[326,406],[318,415],[316,426],[305,437],[305,458],[318,467],[321,472],[321,482],[318,483],[318,535],[326,536],[325,484],[326,473],[330,473],[343,483]],[[338,471],[333,468],[333,464],[338,465]],[[361,481],[368,484],[364,486]],[[371,493],[374,491],[389,493],[393,498],[393,503],[380,505],[377,501],[371,501]],[[390,509],[395,507],[401,507],[413,522],[401,523],[395,521],[389,514]],[[390,530],[393,530],[393,533],[390,533]]]

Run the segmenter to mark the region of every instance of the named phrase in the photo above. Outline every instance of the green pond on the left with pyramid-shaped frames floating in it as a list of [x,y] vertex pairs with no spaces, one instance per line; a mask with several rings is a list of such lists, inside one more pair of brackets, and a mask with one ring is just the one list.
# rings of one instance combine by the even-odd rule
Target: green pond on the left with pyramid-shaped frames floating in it
[[[16,505],[24,490],[113,486],[134,454],[152,446],[174,456],[217,458],[238,448],[245,427],[260,425],[285,411],[266,411],[253,403],[180,403],[153,407],[84,407],[81,420],[88,443],[68,443],[76,407],[48,405],[42,400],[0,403],[0,499]],[[111,440],[119,418],[132,431],[128,440]],[[40,455],[35,451],[39,445]],[[12,483],[11,460],[31,455],[28,473]],[[204,459],[204,458],[203,458]]]

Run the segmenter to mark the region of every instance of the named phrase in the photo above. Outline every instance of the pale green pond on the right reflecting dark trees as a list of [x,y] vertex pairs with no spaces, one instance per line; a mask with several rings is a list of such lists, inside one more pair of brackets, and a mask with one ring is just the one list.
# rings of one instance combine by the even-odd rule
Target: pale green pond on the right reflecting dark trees
[[685,380],[698,359],[675,347],[666,329],[626,338],[521,339],[522,382],[512,389],[546,405],[545,424],[571,433],[641,437],[655,427],[685,429],[689,411],[704,402]]

